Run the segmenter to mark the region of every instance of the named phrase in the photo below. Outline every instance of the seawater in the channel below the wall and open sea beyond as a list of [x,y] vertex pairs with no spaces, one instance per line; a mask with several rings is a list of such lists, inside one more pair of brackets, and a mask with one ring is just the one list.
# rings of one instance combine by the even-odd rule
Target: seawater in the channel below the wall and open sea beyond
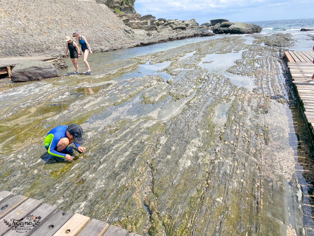
[[[263,27],[262,32],[257,33],[255,35],[270,35],[273,33],[290,33],[293,35],[293,39],[295,40],[295,45],[289,50],[294,51],[312,51],[314,41],[308,35],[314,36],[314,31],[306,31],[301,32],[301,28],[314,29],[314,19],[296,19],[296,20],[267,20],[267,21],[254,21],[254,22],[246,22],[255,25],[260,25]],[[211,39],[223,38],[226,35],[215,35],[210,37],[196,37],[189,38],[183,40],[170,41],[165,43],[157,43],[153,45],[148,45],[144,47],[136,47],[136,48],[126,48],[111,52],[104,53],[94,53],[88,56],[89,65],[91,69],[93,65],[98,64],[110,64],[114,63],[117,60],[128,59],[136,56],[156,53],[165,51],[171,48],[177,48],[183,46],[188,43],[201,42]],[[246,39],[249,38],[250,35],[246,35]],[[250,40],[252,41],[252,40]],[[58,74],[62,75],[64,73],[71,73],[74,70],[72,62],[69,58],[66,59],[67,64],[69,66],[68,69],[59,70]],[[78,60],[79,68],[82,71],[86,71],[83,60]]]

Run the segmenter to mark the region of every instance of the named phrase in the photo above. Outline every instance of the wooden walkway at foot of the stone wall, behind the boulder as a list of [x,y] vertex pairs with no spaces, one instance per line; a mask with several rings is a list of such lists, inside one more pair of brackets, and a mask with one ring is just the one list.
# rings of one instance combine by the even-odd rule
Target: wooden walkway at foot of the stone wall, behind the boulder
[[8,74],[11,76],[12,66],[24,61],[49,61],[57,57],[3,57],[0,58],[0,75]]

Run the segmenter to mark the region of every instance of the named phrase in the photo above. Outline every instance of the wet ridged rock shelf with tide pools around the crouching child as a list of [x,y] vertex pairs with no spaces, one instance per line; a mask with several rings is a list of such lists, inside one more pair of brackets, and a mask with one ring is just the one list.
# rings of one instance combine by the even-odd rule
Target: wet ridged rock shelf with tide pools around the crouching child
[[[313,143],[279,56],[293,42],[254,40],[228,36],[100,64],[88,79],[8,87],[0,190],[144,235],[314,235]],[[228,72],[216,69],[223,55],[234,58]],[[143,65],[158,69],[119,79]],[[240,77],[254,88],[235,85]],[[43,139],[72,122],[86,152],[73,146],[74,161],[57,162]]]

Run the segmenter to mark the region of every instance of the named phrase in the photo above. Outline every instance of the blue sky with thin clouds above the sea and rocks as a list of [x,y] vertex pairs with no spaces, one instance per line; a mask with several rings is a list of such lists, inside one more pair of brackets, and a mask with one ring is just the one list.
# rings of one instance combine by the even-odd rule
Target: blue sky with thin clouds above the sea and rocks
[[313,18],[313,0],[136,0],[141,15],[190,20],[199,24],[212,19],[231,22]]

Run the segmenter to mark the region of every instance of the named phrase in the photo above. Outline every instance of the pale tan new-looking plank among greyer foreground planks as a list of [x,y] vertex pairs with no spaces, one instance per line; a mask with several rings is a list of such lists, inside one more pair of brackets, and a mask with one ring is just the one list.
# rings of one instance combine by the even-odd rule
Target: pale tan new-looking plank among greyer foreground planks
[[89,221],[89,217],[75,213],[53,236],[77,236]]

